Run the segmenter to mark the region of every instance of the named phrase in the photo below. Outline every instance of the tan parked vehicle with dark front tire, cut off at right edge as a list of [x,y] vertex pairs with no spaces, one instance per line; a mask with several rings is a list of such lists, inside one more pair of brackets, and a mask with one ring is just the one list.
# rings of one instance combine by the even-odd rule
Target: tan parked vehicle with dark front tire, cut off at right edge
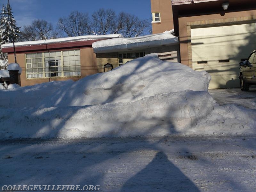
[[256,85],[256,50],[251,52],[247,60],[240,62],[240,88],[249,91],[250,85]]

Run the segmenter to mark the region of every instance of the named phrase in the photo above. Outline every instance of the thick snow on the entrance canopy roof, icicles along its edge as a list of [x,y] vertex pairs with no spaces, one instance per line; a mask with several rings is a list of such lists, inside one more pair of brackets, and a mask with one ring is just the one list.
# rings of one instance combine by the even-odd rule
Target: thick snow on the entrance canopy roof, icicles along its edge
[[154,47],[158,45],[176,44],[178,37],[172,35],[172,31],[165,31],[153,35],[131,37],[131,38],[113,38],[94,42],[92,44],[95,53],[113,52],[113,50],[132,49],[141,47]]

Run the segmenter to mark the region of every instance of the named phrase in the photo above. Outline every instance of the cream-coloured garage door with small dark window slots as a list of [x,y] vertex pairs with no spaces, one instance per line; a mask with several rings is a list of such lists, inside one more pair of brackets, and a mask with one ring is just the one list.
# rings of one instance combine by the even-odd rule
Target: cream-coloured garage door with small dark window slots
[[212,76],[209,88],[239,87],[241,60],[256,49],[256,24],[191,29],[193,69]]

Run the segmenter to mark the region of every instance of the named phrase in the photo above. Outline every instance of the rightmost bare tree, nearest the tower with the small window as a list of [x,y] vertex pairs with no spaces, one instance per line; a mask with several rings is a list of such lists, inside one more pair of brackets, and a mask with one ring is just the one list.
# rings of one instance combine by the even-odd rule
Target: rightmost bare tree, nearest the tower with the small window
[[140,36],[150,26],[148,20],[140,20],[137,16],[126,12],[120,12],[118,18],[119,23],[121,23],[119,33],[125,37]]

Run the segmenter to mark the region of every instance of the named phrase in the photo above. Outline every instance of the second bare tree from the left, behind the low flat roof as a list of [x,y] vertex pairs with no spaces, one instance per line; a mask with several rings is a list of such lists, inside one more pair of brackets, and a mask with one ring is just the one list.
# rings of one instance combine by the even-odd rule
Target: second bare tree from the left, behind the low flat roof
[[68,18],[59,19],[57,28],[69,37],[87,35],[88,20],[88,13],[73,11]]

